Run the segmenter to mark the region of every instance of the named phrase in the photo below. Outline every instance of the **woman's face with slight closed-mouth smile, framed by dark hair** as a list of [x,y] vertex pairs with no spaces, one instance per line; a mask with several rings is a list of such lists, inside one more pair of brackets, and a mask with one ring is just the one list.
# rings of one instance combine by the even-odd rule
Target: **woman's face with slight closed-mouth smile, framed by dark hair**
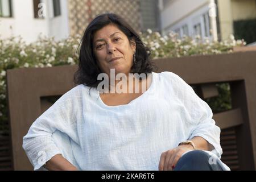
[[94,34],[93,51],[102,72],[110,75],[110,69],[117,73],[130,73],[136,45],[127,36],[109,24]]

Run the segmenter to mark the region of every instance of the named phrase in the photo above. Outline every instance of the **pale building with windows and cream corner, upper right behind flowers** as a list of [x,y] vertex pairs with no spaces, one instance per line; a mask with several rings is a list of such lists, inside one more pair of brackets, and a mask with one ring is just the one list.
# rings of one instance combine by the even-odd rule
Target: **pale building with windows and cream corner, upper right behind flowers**
[[[234,24],[238,20],[256,18],[255,0],[215,0],[217,10],[217,34],[219,40],[236,34]],[[200,35],[212,37],[210,0],[160,0],[160,22],[163,34],[175,31],[179,36]]]

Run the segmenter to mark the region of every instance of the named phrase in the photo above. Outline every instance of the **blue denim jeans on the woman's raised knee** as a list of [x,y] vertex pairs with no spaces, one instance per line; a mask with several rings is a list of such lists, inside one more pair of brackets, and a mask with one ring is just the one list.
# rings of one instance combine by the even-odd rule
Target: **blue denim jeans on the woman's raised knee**
[[205,151],[193,150],[181,156],[174,171],[224,171],[224,168],[217,156],[213,159]]

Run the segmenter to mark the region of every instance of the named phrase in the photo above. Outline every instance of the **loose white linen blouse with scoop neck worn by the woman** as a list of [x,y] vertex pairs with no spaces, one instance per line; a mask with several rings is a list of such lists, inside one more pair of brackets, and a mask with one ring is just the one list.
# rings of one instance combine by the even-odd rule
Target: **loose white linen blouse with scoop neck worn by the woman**
[[56,154],[80,170],[158,170],[162,152],[195,136],[212,144],[210,154],[220,158],[220,128],[212,116],[172,72],[152,72],[150,88],[118,106],[104,104],[96,88],[81,84],[34,121],[23,148],[35,170]]

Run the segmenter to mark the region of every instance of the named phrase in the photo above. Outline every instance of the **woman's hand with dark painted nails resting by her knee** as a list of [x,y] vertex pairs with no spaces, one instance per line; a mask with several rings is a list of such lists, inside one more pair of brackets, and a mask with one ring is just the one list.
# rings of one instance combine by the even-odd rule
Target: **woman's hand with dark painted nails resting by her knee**
[[184,152],[194,150],[190,144],[181,144],[179,147],[163,152],[159,162],[159,171],[172,171]]

